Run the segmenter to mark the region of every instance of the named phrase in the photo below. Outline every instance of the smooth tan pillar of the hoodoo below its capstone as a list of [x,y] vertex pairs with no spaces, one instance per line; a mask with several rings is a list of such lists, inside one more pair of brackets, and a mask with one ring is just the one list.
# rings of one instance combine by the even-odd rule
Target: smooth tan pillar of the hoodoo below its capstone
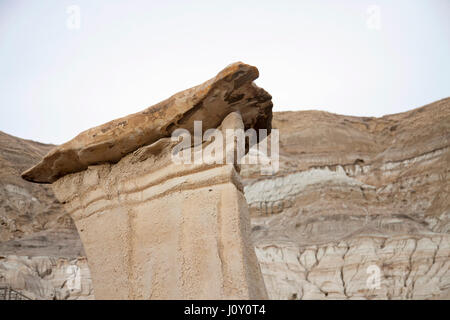
[[[222,129],[243,127],[233,113]],[[97,299],[264,299],[233,164],[176,164],[159,140],[53,183],[83,241]]]

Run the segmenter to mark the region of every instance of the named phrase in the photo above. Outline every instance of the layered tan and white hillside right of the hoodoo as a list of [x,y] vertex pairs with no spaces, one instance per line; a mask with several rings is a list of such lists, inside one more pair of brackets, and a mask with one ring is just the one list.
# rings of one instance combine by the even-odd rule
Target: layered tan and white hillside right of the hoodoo
[[242,171],[270,298],[448,295],[450,99],[382,118],[283,112],[273,127],[278,175]]

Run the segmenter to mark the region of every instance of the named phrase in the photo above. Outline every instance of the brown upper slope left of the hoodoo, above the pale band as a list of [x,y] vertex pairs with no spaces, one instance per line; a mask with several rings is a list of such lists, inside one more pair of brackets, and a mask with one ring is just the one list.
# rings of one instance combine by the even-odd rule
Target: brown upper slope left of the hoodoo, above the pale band
[[20,178],[23,170],[53,147],[0,132],[0,247],[4,241],[49,229],[74,230],[72,220],[49,186]]

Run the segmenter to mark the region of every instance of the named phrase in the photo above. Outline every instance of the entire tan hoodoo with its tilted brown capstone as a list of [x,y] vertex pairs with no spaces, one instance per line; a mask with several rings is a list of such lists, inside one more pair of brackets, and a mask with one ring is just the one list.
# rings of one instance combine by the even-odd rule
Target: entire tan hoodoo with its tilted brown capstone
[[193,132],[194,121],[203,130],[270,131],[271,96],[257,77],[255,67],[232,64],[81,133],[23,174],[53,183],[80,234],[97,299],[267,297],[238,166],[176,163],[169,138],[178,128]]

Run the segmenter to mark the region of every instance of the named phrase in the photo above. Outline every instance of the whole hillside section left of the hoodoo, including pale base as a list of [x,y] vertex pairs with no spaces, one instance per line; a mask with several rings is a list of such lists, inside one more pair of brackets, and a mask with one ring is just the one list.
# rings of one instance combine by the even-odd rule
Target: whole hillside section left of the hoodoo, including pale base
[[[53,147],[0,132],[0,287],[31,299],[92,299],[72,219],[49,186],[20,178]],[[73,270],[81,285],[68,288]]]

